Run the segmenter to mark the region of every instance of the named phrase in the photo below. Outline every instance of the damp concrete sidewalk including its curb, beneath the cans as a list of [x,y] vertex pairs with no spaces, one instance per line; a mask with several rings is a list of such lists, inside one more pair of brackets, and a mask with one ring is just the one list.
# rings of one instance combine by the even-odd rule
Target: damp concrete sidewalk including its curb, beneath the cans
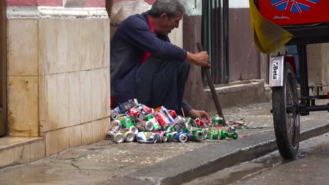
[[[256,129],[237,140],[164,144],[102,141],[68,149],[34,163],[0,170],[0,184],[182,184],[276,150],[271,103],[224,109],[226,120]],[[302,117],[302,140],[329,132],[325,112]]]

